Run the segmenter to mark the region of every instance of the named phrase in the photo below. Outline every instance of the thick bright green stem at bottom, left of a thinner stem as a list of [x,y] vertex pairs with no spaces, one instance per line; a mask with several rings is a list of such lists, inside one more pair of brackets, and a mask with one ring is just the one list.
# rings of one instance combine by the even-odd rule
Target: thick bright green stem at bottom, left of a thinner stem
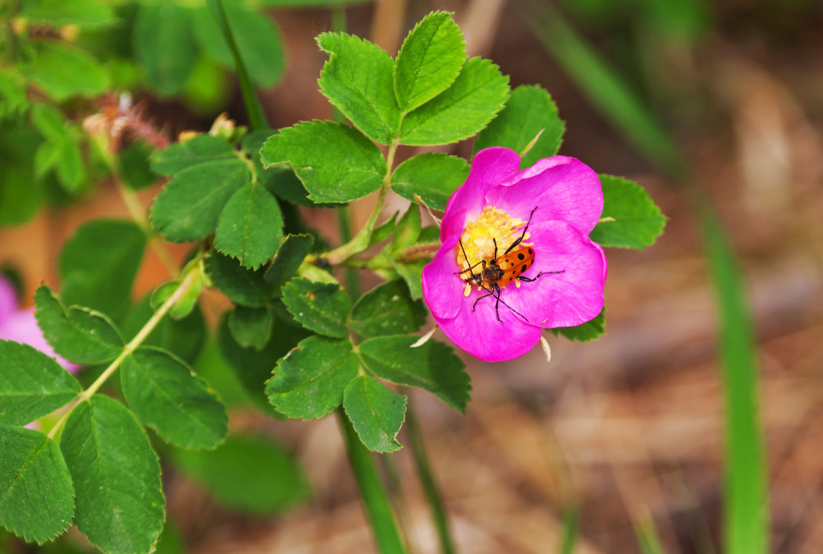
[[407,554],[406,546],[402,542],[397,520],[388,501],[388,495],[383,482],[377,473],[377,467],[371,453],[365,448],[351,421],[346,417],[342,408],[337,408],[337,418],[343,431],[343,440],[346,443],[346,452],[349,455],[351,471],[355,474],[360,498],[363,500],[363,510],[369,520],[374,542],[381,554]]

